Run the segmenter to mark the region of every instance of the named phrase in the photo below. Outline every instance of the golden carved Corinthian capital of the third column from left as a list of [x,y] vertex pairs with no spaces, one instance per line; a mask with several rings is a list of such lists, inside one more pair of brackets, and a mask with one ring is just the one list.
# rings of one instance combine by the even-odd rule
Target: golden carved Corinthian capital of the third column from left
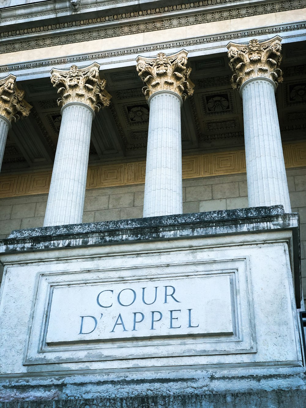
[[173,91],[182,100],[193,94],[193,82],[189,79],[191,68],[186,68],[187,51],[168,55],[158,53],[156,58],[137,57],[136,69],[143,80],[142,92],[148,100],[157,91]]

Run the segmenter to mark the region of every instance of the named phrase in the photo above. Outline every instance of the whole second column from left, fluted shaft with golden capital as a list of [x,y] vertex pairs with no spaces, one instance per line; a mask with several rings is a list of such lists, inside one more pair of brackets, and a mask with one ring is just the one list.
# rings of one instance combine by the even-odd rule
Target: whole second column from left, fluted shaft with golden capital
[[62,122],[44,226],[77,224],[84,209],[92,120],[95,111],[109,105],[111,95],[96,62],[83,69],[53,69],[51,82],[61,95]]

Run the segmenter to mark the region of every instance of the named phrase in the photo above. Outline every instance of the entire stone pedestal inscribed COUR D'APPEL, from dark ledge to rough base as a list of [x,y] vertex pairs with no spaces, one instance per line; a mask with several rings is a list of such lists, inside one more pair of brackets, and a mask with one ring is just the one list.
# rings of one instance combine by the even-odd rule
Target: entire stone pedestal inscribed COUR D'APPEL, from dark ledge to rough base
[[298,248],[281,206],[13,231],[0,401],[302,407]]

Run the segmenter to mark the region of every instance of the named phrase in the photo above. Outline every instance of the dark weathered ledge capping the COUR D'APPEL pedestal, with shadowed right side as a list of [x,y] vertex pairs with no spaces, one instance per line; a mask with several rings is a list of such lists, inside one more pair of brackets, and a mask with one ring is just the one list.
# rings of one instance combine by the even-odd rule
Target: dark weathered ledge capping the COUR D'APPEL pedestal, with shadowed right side
[[302,298],[299,215],[285,214],[281,205],[15,230],[0,241],[0,254],[273,230],[292,231],[292,267],[299,308]]

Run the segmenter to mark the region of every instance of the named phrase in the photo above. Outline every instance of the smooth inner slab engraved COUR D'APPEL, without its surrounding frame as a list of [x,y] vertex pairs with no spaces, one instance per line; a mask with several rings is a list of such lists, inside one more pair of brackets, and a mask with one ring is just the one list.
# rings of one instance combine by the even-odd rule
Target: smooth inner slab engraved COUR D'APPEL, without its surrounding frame
[[233,335],[232,296],[230,274],[55,287],[46,341]]

